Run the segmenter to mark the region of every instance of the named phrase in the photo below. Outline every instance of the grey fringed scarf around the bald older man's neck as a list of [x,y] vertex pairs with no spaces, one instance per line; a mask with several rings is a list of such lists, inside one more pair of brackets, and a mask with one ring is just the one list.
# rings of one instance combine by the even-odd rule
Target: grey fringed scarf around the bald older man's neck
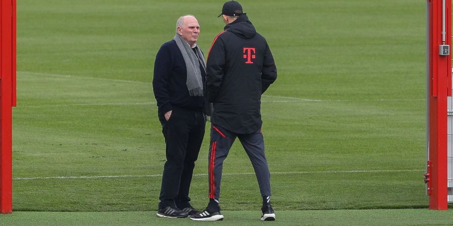
[[193,52],[189,44],[178,34],[175,35],[173,40],[176,41],[181,54],[183,55],[184,62],[187,68],[187,89],[190,96],[203,96],[203,80],[201,78],[200,63],[206,72],[206,62],[204,61],[203,53],[200,48],[197,48],[197,54]]

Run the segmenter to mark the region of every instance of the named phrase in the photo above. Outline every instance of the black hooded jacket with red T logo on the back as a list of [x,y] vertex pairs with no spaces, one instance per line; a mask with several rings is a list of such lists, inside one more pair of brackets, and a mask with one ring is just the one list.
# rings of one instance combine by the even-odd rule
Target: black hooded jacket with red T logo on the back
[[261,94],[277,78],[266,40],[246,15],[226,25],[208,53],[206,96],[212,123],[237,134],[261,129]]

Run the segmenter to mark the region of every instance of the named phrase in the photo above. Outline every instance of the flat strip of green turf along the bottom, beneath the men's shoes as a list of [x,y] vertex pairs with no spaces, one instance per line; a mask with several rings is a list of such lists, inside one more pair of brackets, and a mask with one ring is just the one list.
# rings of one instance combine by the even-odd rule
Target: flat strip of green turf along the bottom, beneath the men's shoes
[[223,221],[168,219],[155,212],[14,212],[0,215],[4,225],[447,225],[452,210],[373,209],[279,211],[276,221],[260,222],[259,211],[223,211]]

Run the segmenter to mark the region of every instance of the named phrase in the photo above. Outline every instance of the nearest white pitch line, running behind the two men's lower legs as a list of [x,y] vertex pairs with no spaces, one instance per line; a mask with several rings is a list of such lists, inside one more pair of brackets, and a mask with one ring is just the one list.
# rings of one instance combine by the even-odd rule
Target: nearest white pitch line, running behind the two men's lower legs
[[[347,171],[301,171],[301,172],[271,172],[271,174],[310,174],[310,173],[398,173],[398,172],[421,172],[424,170],[347,170]],[[253,175],[255,173],[223,173],[222,175]],[[206,173],[194,174],[193,176],[207,176]],[[14,180],[42,180],[42,179],[101,179],[121,177],[161,177],[162,174],[154,175],[107,175],[107,176],[60,176],[60,177],[15,177]]]

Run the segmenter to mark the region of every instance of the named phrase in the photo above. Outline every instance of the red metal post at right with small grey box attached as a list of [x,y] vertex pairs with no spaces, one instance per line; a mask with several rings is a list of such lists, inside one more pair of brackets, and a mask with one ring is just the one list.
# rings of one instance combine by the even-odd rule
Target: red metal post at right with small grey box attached
[[[451,0],[428,0],[428,195],[430,209],[447,209],[447,95],[451,95]],[[444,15],[444,17],[442,17]],[[443,20],[444,19],[444,20]],[[442,23],[444,21],[444,23]],[[442,37],[443,28],[445,35]],[[444,39],[444,40],[443,40]],[[450,50],[451,51],[451,50]]]

